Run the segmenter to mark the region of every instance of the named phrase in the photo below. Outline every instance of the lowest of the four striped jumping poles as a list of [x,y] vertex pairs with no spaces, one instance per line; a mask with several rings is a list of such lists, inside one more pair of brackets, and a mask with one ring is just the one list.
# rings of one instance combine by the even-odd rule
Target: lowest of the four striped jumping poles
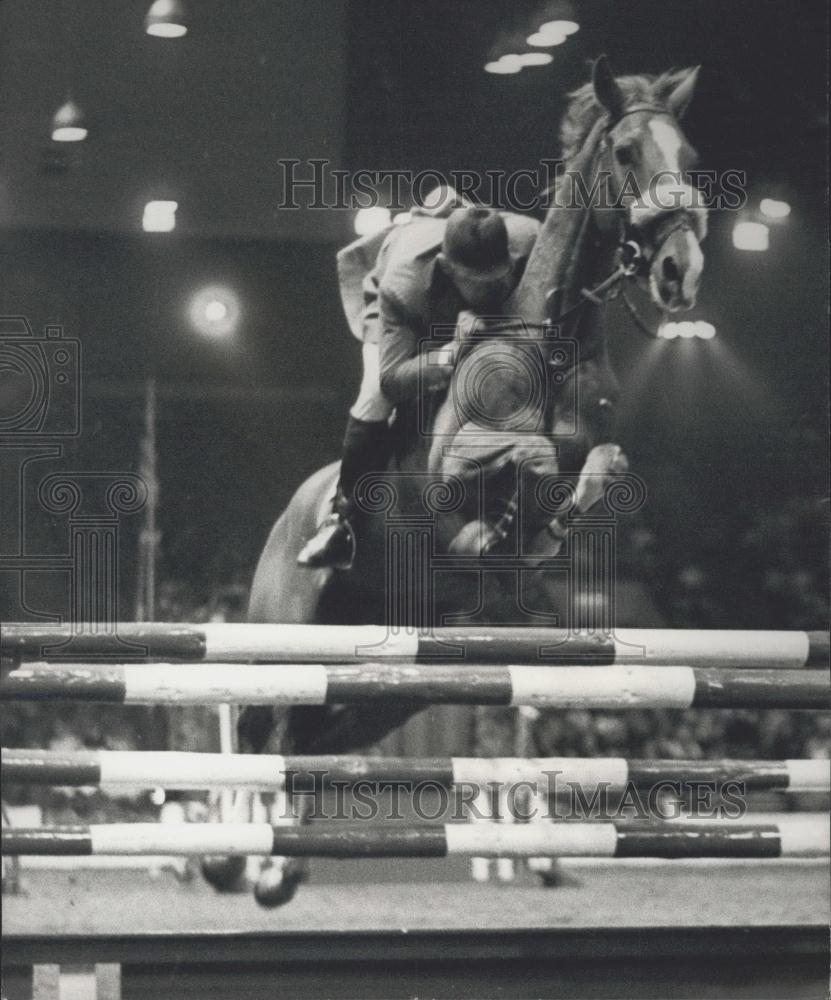
[[3,854],[286,855],[332,858],[782,858],[829,853],[825,817],[792,823],[538,822],[416,827],[320,823],[114,823],[4,829]]

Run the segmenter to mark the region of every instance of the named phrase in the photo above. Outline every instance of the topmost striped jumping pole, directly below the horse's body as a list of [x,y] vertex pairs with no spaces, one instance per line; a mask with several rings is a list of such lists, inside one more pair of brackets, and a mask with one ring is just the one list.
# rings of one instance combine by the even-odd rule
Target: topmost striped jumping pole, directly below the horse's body
[[[133,647],[136,656],[206,662],[339,663],[400,658],[800,669],[825,665],[829,659],[828,635],[819,631],[617,629],[608,635],[471,626],[437,628],[428,634],[394,632],[379,625],[127,622],[117,626],[117,635]],[[62,645],[66,646],[63,657]],[[96,632],[94,623],[75,629],[10,624],[0,636],[0,653],[29,659],[112,657],[112,630]]]

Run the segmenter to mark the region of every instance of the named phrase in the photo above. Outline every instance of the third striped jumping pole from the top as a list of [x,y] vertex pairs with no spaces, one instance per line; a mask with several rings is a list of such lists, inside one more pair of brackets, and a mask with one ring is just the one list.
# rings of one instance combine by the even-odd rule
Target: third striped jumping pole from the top
[[620,791],[665,782],[747,790],[831,791],[828,760],[627,760],[619,757],[367,757],[278,754],[90,750],[60,752],[3,749],[4,782],[37,785],[212,789],[268,792],[284,784],[296,791],[360,782],[510,787],[521,782],[543,792],[559,786]]

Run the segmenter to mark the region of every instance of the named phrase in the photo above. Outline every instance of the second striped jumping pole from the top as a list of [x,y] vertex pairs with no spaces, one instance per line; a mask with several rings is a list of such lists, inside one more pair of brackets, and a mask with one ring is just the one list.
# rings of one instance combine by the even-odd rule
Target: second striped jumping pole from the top
[[831,707],[823,670],[495,664],[21,664],[0,699],[138,705],[416,704],[538,708]]

